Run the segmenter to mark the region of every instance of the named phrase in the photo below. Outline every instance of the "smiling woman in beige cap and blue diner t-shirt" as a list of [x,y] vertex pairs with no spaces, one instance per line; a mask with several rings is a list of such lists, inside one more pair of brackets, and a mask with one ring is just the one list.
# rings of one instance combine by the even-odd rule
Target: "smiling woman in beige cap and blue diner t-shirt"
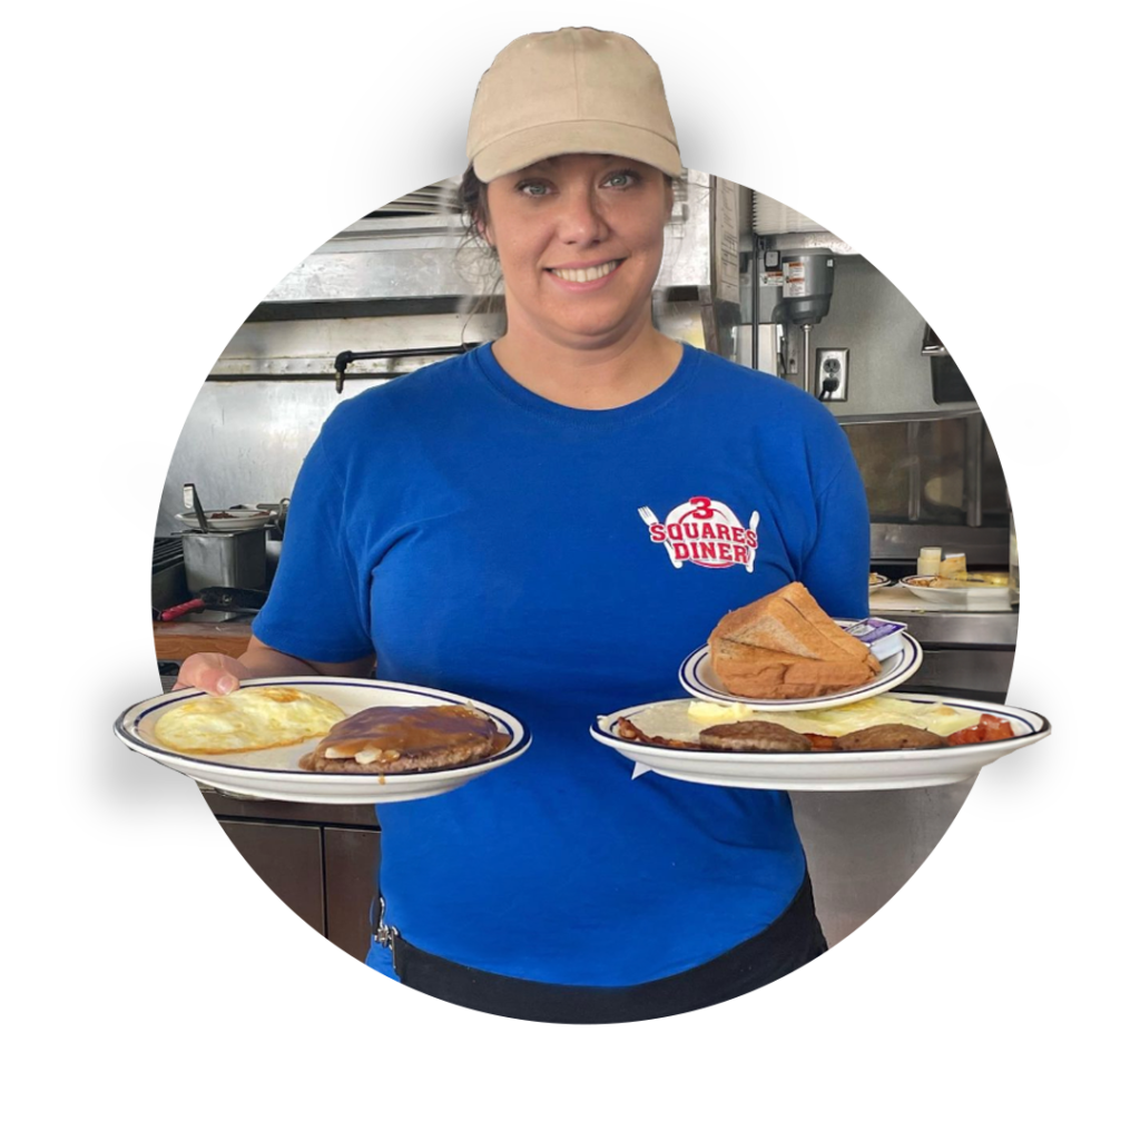
[[[377,808],[399,937],[368,966],[518,1020],[706,1009],[825,952],[789,798],[634,782],[587,730],[683,695],[677,667],[717,620],[789,581],[864,616],[863,484],[825,407],[653,327],[682,165],[643,48],[593,28],[512,41],[467,154],[506,334],[337,407],[250,650],[190,658],[180,682],[364,676],[375,658],[511,710],[535,736],[519,762]],[[670,512],[726,527],[731,564],[666,546]]]

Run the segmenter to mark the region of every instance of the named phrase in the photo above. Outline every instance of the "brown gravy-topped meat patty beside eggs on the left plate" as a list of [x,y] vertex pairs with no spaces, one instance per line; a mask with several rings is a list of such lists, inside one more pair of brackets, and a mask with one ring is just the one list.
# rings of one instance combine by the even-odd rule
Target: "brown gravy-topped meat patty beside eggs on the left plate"
[[464,705],[377,706],[336,724],[302,757],[308,772],[361,774],[463,767],[499,751],[508,736]]

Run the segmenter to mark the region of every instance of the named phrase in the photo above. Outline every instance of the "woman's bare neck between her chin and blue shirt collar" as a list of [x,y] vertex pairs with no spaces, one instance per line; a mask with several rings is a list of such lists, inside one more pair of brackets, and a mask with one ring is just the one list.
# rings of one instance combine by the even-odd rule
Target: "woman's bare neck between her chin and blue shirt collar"
[[683,348],[649,321],[609,343],[577,347],[510,327],[491,351],[504,372],[537,396],[569,408],[620,408],[660,388]]

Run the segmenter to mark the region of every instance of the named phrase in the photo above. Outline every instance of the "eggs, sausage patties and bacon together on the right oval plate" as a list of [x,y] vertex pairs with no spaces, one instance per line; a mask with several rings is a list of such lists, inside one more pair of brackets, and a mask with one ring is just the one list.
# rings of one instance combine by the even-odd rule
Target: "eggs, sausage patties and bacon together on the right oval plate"
[[[746,725],[764,728],[744,728]],[[723,726],[716,733],[712,726]],[[624,740],[665,748],[702,751],[740,751],[738,743],[756,733],[765,742],[775,739],[772,728],[787,728],[804,738],[812,751],[852,751],[969,744],[1005,740],[1013,726],[990,712],[974,712],[948,705],[906,701],[897,697],[872,697],[840,708],[797,712],[769,712],[747,705],[714,701],[660,701],[628,717],[620,717],[614,731]],[[877,732],[886,728],[886,732]],[[861,735],[866,733],[866,735]],[[872,734],[873,733],[873,734]],[[735,743],[728,748],[725,741]],[[844,743],[841,743],[844,742]],[[756,751],[768,751],[757,748]],[[784,751],[805,751],[798,743]]]

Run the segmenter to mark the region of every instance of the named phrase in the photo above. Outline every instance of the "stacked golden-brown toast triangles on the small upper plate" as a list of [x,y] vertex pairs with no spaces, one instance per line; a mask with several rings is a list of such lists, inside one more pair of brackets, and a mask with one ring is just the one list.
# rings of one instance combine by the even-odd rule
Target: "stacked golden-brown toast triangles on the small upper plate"
[[736,697],[825,697],[872,681],[876,656],[828,617],[803,583],[726,613],[709,635],[712,671]]

